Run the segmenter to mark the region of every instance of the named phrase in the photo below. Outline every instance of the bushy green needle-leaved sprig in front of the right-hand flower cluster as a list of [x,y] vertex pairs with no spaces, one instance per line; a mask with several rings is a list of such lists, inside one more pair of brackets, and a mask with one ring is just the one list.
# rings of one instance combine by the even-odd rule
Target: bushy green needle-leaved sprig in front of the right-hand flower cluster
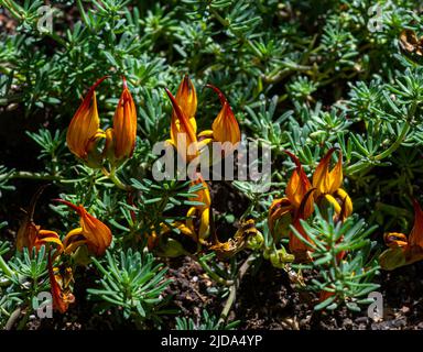
[[345,304],[351,310],[360,310],[358,304],[372,301],[367,295],[380,286],[373,283],[379,265],[375,254],[370,254],[376,243],[368,239],[375,228],[366,230],[364,220],[352,218],[335,224],[332,217],[326,220],[318,210],[314,222],[304,222],[303,228],[313,241],[312,267],[318,271],[307,288],[322,293],[314,309],[336,309]]

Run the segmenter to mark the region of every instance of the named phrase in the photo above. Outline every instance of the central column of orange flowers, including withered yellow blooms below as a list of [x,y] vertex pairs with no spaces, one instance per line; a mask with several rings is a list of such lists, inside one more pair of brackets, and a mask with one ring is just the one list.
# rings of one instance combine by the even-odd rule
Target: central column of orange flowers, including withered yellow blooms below
[[[176,148],[177,153],[186,163],[198,157],[202,151],[212,142],[219,142],[224,145],[221,156],[225,157],[225,153],[236,148],[241,141],[240,129],[228,100],[218,88],[212,85],[207,85],[206,87],[212,88],[218,95],[221,109],[212,124],[212,130],[205,130],[199,133],[197,133],[197,122],[195,119],[197,95],[188,76],[183,78],[175,97],[166,89],[173,107],[171,139],[169,142]],[[202,245],[206,246],[215,251],[219,256],[232,255],[240,251],[246,244],[247,231],[245,224],[241,224],[234,239],[229,239],[227,242],[220,242],[217,233],[215,233],[210,227],[213,219],[210,219],[212,198],[209,187],[198,169],[195,170],[194,175],[188,176],[193,179],[192,186],[202,186],[191,198],[192,201],[196,201],[199,205],[192,206],[188,209],[185,222],[177,221],[173,223],[172,227],[178,229],[182,234],[193,239],[199,248]],[[170,227],[162,224],[162,237],[171,231],[172,229]],[[212,238],[208,240],[210,233]],[[239,241],[239,238],[243,240]],[[155,232],[153,232],[149,242],[150,249],[152,249],[154,244],[158,244],[158,241],[159,239]],[[172,255],[184,253],[182,246],[175,244],[177,242],[172,241],[171,243],[173,248],[176,246],[181,249],[181,251],[171,251]]]

